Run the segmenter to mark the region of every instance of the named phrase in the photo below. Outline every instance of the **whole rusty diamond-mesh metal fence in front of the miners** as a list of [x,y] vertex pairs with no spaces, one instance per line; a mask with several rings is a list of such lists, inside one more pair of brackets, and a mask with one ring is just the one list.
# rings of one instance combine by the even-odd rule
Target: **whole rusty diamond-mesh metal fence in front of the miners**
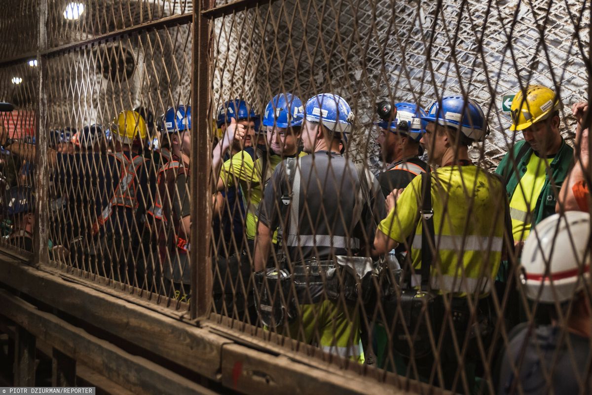
[[13,6],[2,246],[368,380],[590,391],[590,4]]

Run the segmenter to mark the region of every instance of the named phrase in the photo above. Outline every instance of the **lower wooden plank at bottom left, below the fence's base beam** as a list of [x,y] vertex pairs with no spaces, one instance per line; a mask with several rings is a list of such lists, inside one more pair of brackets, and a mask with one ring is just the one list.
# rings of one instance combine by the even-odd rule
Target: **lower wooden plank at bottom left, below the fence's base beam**
[[7,291],[0,290],[0,305],[4,316],[28,329],[31,335],[43,339],[70,358],[94,368],[134,393],[214,394],[154,362],[91,336],[53,314],[39,311]]

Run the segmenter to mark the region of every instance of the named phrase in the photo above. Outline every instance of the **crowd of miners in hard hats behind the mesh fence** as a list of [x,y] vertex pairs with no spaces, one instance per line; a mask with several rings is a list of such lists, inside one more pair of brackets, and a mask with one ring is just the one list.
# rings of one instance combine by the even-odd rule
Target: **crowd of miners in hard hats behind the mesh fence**
[[[382,165],[371,172],[348,150],[345,98],[281,93],[260,115],[230,100],[215,115],[211,224],[191,217],[191,107],[157,121],[121,111],[108,127],[49,133],[48,248],[189,301],[199,227],[212,235],[217,313],[459,393],[484,377],[498,393],[585,393],[592,120],[586,102],[572,106],[574,153],[562,108],[552,89],[521,88],[509,152],[491,173],[469,156],[490,131],[476,101],[380,102]],[[12,156],[16,178],[31,179],[36,145],[3,134],[5,177]],[[3,197],[4,237],[31,251],[34,185],[16,184]]]

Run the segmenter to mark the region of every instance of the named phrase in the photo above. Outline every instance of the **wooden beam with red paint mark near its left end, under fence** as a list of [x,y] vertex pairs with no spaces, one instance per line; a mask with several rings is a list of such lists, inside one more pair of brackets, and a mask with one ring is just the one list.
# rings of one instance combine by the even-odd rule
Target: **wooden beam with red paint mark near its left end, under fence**
[[272,356],[240,345],[225,345],[222,349],[222,384],[233,390],[253,395],[279,394],[403,394],[403,390],[364,380],[346,378],[292,361],[284,356]]

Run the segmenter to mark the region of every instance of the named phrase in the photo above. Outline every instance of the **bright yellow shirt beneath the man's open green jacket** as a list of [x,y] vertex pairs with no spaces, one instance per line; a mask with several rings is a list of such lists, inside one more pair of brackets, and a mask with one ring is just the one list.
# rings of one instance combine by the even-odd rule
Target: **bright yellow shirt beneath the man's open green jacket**
[[547,176],[546,169],[553,159],[530,155],[526,172],[520,178],[510,200],[510,217],[514,240],[526,240],[532,226],[532,215]]

